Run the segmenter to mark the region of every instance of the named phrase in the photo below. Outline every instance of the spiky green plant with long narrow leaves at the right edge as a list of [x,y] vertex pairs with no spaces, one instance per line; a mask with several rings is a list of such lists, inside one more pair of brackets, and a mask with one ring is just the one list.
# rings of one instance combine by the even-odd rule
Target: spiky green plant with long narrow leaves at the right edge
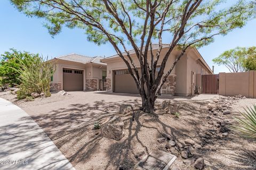
[[238,122],[237,126],[231,126],[234,131],[240,132],[248,138],[256,139],[256,105],[247,107],[242,113],[243,118],[234,117]]

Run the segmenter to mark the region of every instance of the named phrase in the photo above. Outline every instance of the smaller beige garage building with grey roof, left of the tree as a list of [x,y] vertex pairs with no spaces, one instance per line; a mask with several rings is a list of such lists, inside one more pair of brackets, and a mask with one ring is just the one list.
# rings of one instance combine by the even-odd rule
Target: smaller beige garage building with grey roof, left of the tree
[[51,78],[51,90],[83,91],[106,90],[107,64],[100,62],[103,57],[87,57],[69,54],[53,58],[56,70]]

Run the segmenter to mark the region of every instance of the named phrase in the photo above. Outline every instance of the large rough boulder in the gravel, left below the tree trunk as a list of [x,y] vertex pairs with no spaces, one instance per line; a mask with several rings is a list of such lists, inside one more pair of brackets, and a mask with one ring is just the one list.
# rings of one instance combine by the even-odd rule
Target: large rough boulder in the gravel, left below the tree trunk
[[120,140],[124,136],[124,122],[119,116],[110,117],[101,125],[100,129],[101,135],[106,138]]

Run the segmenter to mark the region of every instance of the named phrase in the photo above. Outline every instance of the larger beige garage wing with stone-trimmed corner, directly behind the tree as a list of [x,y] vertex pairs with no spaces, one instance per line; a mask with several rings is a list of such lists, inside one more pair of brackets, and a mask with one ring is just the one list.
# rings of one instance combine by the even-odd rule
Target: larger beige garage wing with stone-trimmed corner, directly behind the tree
[[[158,61],[158,67],[161,65],[164,54],[166,54],[169,45],[163,45],[163,49]],[[158,44],[153,45],[153,54],[156,56]],[[138,68],[140,67],[137,56],[134,50],[129,51],[133,62]],[[164,73],[172,66],[175,58],[180,54],[180,50],[174,49],[166,63]],[[126,55],[126,53],[123,53]],[[150,51],[148,52],[150,57]],[[127,56],[126,56],[127,58]],[[129,61],[129,59],[127,58]],[[123,92],[137,94],[136,84],[127,70],[127,66],[118,55],[103,58],[101,62],[107,64],[107,91]],[[157,69],[159,70],[159,69]],[[196,75],[197,74],[197,75]],[[169,75],[165,84],[161,89],[161,94],[166,95],[194,95],[196,86],[201,86],[201,74],[213,74],[210,67],[206,64],[203,57],[199,54],[196,48],[189,48],[187,52],[180,58],[180,61],[175,65],[173,71]],[[196,80],[196,77],[198,79]]]

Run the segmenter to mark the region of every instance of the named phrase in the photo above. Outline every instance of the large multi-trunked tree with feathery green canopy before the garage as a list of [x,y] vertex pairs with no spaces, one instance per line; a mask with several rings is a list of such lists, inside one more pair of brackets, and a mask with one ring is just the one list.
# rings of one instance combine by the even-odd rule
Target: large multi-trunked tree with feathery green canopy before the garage
[[[201,47],[216,35],[241,28],[255,16],[255,2],[246,0],[11,0],[29,16],[45,18],[51,35],[63,25],[85,30],[87,39],[100,45],[109,42],[126,63],[140,96],[142,109],[154,113],[158,91],[180,57],[190,46]],[[158,74],[156,65],[162,51],[162,35],[171,35]],[[159,44],[157,53],[151,43]],[[134,64],[127,46],[132,46],[139,61]],[[143,48],[144,46],[144,48]],[[174,47],[180,48],[169,71],[166,61]],[[126,52],[126,56],[122,54]],[[141,72],[137,67],[141,68]],[[146,88],[145,88],[146,87]]]

